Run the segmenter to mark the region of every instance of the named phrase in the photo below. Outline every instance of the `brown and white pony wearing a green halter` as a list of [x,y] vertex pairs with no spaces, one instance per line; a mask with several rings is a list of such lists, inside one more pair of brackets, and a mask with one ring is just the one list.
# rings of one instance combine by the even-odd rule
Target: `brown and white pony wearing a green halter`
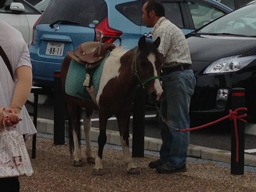
[[[129,120],[132,112],[132,102],[138,86],[141,85],[148,90],[148,93],[155,94],[157,99],[163,93],[159,81],[163,54],[157,49],[159,44],[159,37],[154,42],[148,42],[145,36],[141,36],[138,46],[133,49],[126,50],[122,47],[115,47],[104,63],[99,91],[95,98],[96,102],[77,98],[65,92],[65,82],[71,61],[71,58],[65,56],[61,64],[61,84],[71,125],[68,128],[68,137],[70,153],[74,156],[74,166],[83,166],[84,164],[81,158],[81,129],[80,118],[78,118],[79,109],[83,107],[86,113],[83,123],[86,140],[86,159],[88,163],[95,163],[93,175],[104,174],[102,156],[107,140],[106,125],[108,118],[113,115],[116,116],[118,122],[125,168],[130,174],[140,174],[140,170],[132,162],[129,151]],[[96,158],[93,157],[90,144],[91,119],[94,111],[99,111],[100,130]]]

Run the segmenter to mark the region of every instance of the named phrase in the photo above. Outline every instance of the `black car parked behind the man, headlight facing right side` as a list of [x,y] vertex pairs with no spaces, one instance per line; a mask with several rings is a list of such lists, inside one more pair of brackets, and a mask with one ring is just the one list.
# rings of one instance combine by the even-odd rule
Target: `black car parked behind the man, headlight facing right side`
[[228,115],[232,88],[244,88],[248,122],[256,122],[256,1],[186,35],[196,76],[193,118]]

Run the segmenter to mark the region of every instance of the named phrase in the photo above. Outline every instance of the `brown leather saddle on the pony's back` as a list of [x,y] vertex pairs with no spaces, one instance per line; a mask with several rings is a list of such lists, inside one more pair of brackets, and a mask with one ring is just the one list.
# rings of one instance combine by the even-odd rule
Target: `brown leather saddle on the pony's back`
[[76,50],[68,51],[67,55],[84,65],[87,72],[87,70],[100,65],[101,61],[106,57],[107,51],[112,51],[115,48],[116,45],[111,43],[85,42],[80,44]]

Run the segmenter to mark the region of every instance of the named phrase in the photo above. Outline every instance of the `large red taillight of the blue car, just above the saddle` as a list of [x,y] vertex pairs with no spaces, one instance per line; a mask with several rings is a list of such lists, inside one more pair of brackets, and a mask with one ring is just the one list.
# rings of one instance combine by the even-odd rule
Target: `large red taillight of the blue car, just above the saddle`
[[[95,42],[99,42],[100,38],[102,36],[121,36],[123,34],[122,31],[119,31],[117,29],[109,28],[108,25],[108,17],[106,17],[102,22],[100,22],[96,27],[95,27]],[[102,43],[113,43],[115,42],[115,38],[104,38],[102,40]]]

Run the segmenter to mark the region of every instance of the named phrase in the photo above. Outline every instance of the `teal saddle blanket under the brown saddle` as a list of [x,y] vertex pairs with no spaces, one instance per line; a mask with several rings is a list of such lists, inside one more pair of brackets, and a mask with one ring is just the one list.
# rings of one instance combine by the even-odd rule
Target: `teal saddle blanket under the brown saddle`
[[[90,81],[93,85],[95,95],[97,95],[99,91],[102,70],[108,56],[109,54],[106,56],[106,58],[104,58],[98,67],[90,69]],[[84,65],[77,63],[75,60],[71,60],[65,84],[66,93],[81,99],[92,100],[90,93],[86,91],[86,87],[83,85],[85,77],[86,69]]]

